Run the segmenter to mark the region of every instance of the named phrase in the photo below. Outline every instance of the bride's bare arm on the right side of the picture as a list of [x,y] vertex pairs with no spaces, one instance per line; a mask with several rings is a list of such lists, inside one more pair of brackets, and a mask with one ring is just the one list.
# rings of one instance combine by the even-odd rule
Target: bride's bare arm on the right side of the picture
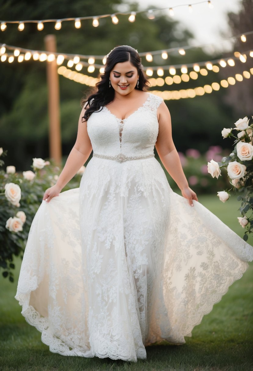
[[187,198],[189,204],[193,206],[192,200],[198,201],[198,198],[195,192],[189,187],[184,175],[180,158],[172,139],[170,111],[164,102],[160,104],[157,110],[157,116],[159,132],[155,148],[165,169],[180,188],[182,196]]

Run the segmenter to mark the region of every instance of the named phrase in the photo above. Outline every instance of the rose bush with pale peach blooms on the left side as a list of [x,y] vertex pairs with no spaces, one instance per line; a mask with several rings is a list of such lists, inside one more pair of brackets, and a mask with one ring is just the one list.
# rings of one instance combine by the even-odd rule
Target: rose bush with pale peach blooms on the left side
[[[0,148],[0,166],[4,166],[6,151]],[[14,166],[0,170],[0,270],[13,282],[13,256],[23,256],[33,217],[39,208],[44,192],[56,183],[60,168],[42,158],[34,158],[31,170],[16,172]],[[79,187],[79,174],[63,191]]]

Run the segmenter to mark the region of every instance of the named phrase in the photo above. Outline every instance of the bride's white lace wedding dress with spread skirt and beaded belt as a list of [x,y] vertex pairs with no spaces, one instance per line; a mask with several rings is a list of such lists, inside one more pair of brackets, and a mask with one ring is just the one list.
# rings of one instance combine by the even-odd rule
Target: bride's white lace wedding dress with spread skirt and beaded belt
[[154,342],[183,344],[253,259],[214,214],[171,190],[153,157],[161,101],[150,93],[122,121],[93,113],[80,188],[42,201],[34,217],[15,298],[52,352],[137,361]]

